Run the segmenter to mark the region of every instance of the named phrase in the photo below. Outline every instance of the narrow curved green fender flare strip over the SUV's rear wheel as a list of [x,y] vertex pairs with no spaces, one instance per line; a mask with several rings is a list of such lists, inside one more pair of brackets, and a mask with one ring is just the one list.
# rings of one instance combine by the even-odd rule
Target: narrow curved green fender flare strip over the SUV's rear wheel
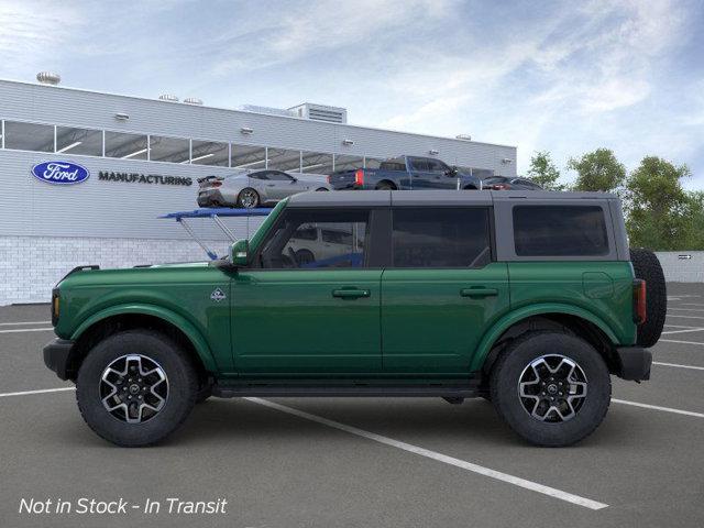
[[496,323],[494,323],[494,326],[487,332],[484,333],[484,337],[482,338],[482,341],[480,342],[479,346],[476,348],[476,352],[472,358],[472,362],[470,364],[470,372],[476,372],[482,370],[482,366],[484,365],[484,361],[486,360],[486,356],[488,355],[492,348],[494,346],[494,343],[506,330],[508,330],[512,326],[516,324],[517,322],[520,322],[524,319],[527,319],[532,316],[540,316],[542,314],[566,314],[570,316],[576,316],[581,319],[584,319],[595,324],[600,330],[602,330],[606,334],[606,337],[613,343],[618,342],[618,339],[616,338],[616,334],[612,331],[610,327],[606,324],[606,322],[604,322],[603,319],[595,316],[591,311],[585,310],[584,308],[579,308],[576,306],[571,306],[571,305],[562,305],[558,302],[530,305],[530,306],[526,306],[517,310],[510,311],[509,314],[505,315]]

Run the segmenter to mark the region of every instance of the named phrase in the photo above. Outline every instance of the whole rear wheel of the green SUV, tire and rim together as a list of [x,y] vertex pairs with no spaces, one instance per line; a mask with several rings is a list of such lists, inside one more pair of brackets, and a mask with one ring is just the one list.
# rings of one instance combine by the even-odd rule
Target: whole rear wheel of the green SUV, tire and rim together
[[520,437],[543,447],[570,446],[591,435],[612,394],[600,353],[560,332],[516,339],[494,365],[490,384],[498,415]]

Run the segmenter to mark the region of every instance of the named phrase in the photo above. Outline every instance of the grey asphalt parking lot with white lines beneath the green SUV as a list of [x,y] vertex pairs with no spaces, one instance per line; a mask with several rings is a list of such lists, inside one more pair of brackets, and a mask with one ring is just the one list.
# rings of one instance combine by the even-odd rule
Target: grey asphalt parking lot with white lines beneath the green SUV
[[[47,306],[0,308],[0,526],[704,525],[704,285],[669,285],[651,380],[582,443],[534,448],[482,400],[215,399],[157,448],[84,424],[43,364]],[[22,498],[228,501],[227,514],[20,514]]]

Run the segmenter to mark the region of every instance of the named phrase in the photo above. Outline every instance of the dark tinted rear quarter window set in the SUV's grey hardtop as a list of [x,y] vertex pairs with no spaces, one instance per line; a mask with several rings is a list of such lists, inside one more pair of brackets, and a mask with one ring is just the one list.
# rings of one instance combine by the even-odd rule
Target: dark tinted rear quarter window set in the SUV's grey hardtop
[[514,239],[519,256],[608,254],[604,211],[597,206],[514,207]]

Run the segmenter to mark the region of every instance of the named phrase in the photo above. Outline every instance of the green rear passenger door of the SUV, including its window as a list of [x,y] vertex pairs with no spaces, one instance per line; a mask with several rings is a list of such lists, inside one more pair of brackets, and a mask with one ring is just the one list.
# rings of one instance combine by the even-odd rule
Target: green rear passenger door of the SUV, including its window
[[465,375],[483,332],[509,307],[493,262],[491,208],[395,207],[382,277],[384,372]]

